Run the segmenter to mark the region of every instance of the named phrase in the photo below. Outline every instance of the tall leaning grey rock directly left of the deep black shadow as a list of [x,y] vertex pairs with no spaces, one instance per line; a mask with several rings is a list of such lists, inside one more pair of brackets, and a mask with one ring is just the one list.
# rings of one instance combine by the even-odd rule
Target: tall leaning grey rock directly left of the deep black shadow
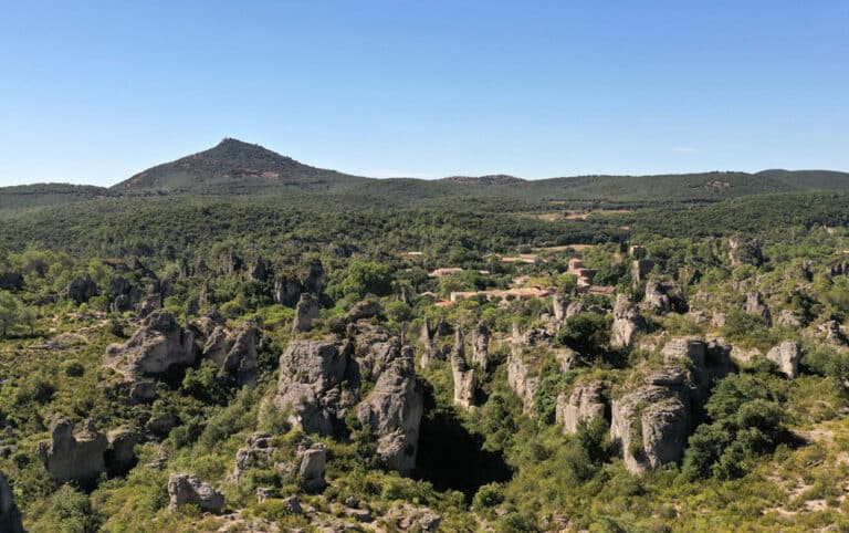
[[377,452],[391,469],[408,473],[416,466],[424,393],[416,380],[412,351],[407,347],[380,374],[357,408],[357,418],[378,436]]

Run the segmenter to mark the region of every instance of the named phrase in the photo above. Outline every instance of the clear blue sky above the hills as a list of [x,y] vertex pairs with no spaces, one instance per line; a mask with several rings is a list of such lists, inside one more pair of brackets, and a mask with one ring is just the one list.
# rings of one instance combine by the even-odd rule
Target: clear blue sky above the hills
[[0,185],[849,170],[849,1],[2,2]]

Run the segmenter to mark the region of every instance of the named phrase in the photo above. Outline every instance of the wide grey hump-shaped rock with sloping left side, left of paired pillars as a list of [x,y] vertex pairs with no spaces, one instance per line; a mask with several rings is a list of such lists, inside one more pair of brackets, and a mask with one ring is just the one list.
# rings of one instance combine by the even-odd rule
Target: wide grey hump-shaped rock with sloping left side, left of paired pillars
[[195,335],[167,311],[156,311],[124,344],[106,348],[106,365],[127,377],[163,374],[175,365],[195,362]]

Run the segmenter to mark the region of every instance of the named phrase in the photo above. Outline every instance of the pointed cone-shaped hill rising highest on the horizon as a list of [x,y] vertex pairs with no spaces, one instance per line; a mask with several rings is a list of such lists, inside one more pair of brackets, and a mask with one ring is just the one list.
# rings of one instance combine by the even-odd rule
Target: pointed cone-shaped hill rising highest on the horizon
[[240,195],[291,188],[335,191],[367,179],[311,167],[262,146],[226,138],[208,150],[148,168],[112,190]]

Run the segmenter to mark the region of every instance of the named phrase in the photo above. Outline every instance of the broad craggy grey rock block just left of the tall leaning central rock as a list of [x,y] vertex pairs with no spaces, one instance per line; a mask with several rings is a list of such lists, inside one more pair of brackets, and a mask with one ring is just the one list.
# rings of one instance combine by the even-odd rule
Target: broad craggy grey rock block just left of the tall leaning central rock
[[329,335],[318,339],[295,338],[280,357],[280,378],[274,404],[306,432],[333,435],[350,394],[343,389],[353,345]]

